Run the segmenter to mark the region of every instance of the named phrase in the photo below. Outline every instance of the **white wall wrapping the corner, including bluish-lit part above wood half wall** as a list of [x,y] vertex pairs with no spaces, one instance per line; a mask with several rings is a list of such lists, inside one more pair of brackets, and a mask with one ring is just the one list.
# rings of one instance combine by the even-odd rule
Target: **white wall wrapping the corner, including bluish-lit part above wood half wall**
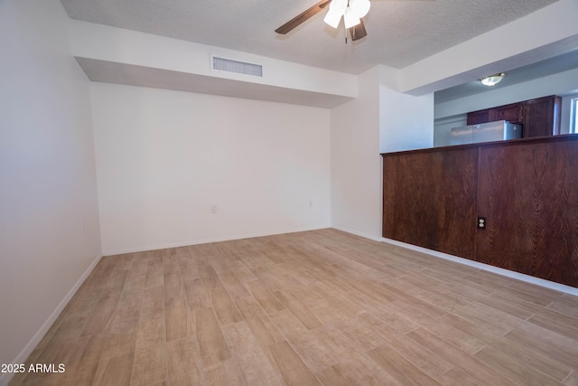
[[359,98],[331,109],[331,226],[381,240],[380,153],[433,146],[433,94],[396,91],[399,71],[359,75]]

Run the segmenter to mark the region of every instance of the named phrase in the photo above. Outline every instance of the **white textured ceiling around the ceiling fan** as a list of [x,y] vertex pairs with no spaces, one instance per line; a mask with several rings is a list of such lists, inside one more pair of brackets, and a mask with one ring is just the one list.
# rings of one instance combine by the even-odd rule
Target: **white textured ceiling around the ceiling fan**
[[404,68],[555,0],[371,0],[368,36],[345,43],[325,12],[286,35],[275,28],[316,0],[61,0],[73,19],[353,74]]

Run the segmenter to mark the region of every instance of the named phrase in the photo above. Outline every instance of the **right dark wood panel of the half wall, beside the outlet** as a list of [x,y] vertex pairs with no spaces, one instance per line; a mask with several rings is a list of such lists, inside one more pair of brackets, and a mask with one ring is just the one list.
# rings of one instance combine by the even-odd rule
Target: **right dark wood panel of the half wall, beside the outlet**
[[578,287],[578,141],[480,147],[476,259]]

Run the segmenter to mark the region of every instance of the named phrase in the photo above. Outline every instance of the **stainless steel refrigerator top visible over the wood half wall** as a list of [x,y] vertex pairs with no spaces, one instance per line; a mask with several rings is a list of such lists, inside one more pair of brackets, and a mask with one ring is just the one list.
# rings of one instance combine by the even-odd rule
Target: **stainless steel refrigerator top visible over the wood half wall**
[[463,127],[453,127],[451,145],[464,145],[478,142],[502,141],[522,137],[522,125],[514,125],[507,120],[480,123]]

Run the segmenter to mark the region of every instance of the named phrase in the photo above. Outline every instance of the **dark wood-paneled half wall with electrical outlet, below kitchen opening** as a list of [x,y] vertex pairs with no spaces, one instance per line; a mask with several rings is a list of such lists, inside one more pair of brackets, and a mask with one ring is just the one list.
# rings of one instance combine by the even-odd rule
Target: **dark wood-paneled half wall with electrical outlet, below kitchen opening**
[[382,156],[383,237],[578,287],[578,135]]

